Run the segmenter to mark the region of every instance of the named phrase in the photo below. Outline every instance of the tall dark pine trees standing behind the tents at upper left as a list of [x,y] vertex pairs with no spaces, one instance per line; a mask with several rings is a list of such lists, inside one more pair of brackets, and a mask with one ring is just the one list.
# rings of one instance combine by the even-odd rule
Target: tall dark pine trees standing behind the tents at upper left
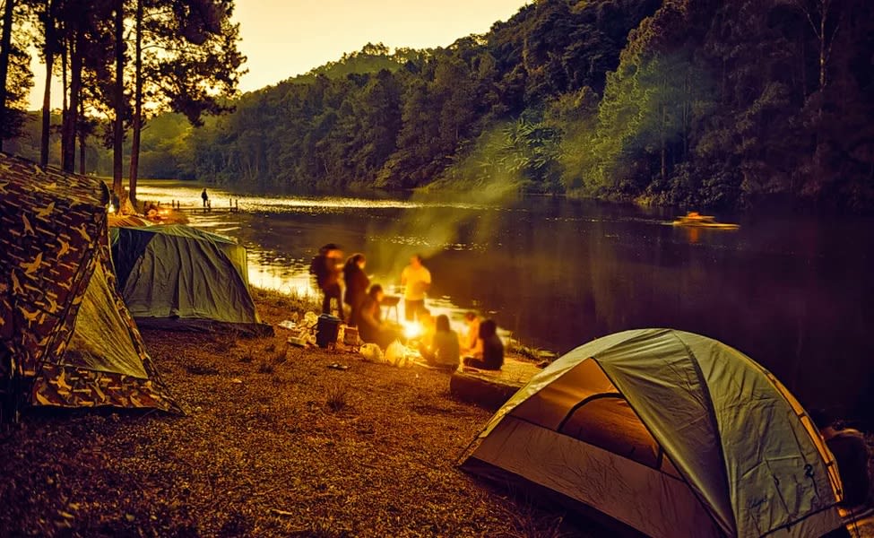
[[[0,150],[94,173],[89,153],[106,152],[93,146],[110,148],[112,189],[135,201],[149,117],[175,112],[199,126],[204,115],[232,109],[227,98],[246,60],[233,8],[233,0],[2,0]],[[46,74],[36,113],[26,109],[32,56]]]

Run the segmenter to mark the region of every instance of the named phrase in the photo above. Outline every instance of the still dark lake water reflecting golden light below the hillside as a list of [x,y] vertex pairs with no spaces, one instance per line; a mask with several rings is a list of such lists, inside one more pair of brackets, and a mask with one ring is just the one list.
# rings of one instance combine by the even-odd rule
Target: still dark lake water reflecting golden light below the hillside
[[[200,205],[201,187],[148,182],[141,200]],[[319,246],[368,256],[391,289],[412,253],[433,274],[429,307],[475,309],[522,343],[563,353],[604,334],[673,327],[738,348],[808,406],[852,405],[874,371],[874,221],[717,215],[740,230],[688,230],[673,213],[548,197],[481,202],[209,188],[195,227],[248,249],[250,282],[313,293]],[[493,198],[493,197],[489,197]]]

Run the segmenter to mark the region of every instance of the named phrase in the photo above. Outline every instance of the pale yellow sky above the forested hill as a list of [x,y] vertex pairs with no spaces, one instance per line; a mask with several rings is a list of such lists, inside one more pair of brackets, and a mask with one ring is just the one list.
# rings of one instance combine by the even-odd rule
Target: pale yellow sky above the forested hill
[[[529,0],[530,2],[530,0]],[[238,47],[247,56],[241,91],[281,82],[368,42],[389,48],[446,47],[506,21],[525,0],[237,0]],[[42,106],[45,68],[33,66],[31,109]],[[60,90],[52,92],[60,104]]]

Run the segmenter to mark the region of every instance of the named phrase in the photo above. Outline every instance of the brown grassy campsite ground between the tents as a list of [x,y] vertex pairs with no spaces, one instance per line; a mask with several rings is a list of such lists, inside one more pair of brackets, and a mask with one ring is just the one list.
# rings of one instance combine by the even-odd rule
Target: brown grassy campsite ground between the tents
[[[274,325],[299,307],[256,300]],[[603,534],[456,469],[490,412],[444,374],[287,348],[281,329],[143,335],[186,416],[26,416],[0,438],[0,534]]]

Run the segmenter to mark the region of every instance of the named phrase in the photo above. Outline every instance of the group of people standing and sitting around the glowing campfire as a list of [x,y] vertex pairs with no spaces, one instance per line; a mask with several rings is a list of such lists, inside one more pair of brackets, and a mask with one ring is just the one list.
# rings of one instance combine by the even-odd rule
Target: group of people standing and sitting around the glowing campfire
[[[341,248],[329,243],[319,249],[318,256],[313,258],[310,265],[309,272],[316,276],[316,284],[324,294],[322,312],[332,314],[332,303],[335,302],[339,317],[347,325],[358,328],[362,341],[376,343],[385,350],[402,337],[399,326],[383,319],[385,291],[381,285],[370,283],[364,271],[366,256],[357,253],[345,261],[342,258]],[[422,264],[420,255],[411,256],[410,265],[404,267],[401,273],[401,284],[404,287],[404,317],[409,322],[420,323],[422,333],[417,347],[428,365],[454,370],[463,363],[478,369],[501,369],[504,364],[504,344],[498,337],[498,325],[493,320],[480,321],[475,312],[468,312],[464,315],[467,334],[459,339],[449,325],[449,317],[445,314],[433,317],[425,308],[431,273]],[[343,304],[349,307],[348,317],[345,316]]]

